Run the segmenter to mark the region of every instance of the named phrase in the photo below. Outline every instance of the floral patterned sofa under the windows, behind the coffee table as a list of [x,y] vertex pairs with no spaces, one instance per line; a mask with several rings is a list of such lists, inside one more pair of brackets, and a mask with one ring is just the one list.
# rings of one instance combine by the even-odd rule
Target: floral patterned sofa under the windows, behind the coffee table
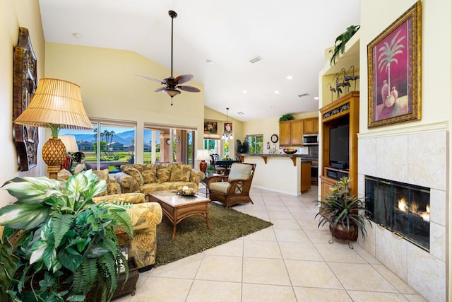
[[[121,165],[122,173],[115,177],[122,193],[143,193],[177,190],[190,187],[198,192],[198,185],[205,175],[184,163],[150,163],[145,165]],[[147,198],[147,197],[146,197]]]

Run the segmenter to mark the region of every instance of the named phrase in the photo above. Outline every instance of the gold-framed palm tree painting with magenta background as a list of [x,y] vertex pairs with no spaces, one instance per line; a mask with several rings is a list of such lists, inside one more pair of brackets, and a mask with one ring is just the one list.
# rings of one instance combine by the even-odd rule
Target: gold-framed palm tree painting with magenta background
[[367,126],[421,118],[421,1],[367,45]]

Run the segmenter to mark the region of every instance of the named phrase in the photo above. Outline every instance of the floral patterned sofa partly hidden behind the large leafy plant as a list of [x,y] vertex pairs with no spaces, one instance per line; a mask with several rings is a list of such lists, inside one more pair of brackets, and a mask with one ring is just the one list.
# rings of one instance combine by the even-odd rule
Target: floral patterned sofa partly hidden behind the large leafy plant
[[[109,177],[108,170],[93,170],[100,180],[107,182],[107,190],[96,197],[94,202],[125,202],[132,204],[127,209],[131,216],[133,226],[133,238],[121,228],[117,228],[116,233],[119,245],[127,246],[129,257],[134,257],[140,272],[144,272],[155,263],[157,251],[157,224],[162,221],[162,207],[157,202],[146,202],[145,194],[125,193],[117,194],[118,186],[114,178]],[[58,178],[65,182],[71,173],[61,170]]]

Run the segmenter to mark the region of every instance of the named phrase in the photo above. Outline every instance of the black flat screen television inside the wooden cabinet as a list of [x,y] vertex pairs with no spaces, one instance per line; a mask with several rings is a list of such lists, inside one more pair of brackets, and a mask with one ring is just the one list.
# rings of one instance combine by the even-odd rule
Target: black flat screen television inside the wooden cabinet
[[330,129],[330,164],[337,163],[348,169],[349,161],[349,125],[341,125]]

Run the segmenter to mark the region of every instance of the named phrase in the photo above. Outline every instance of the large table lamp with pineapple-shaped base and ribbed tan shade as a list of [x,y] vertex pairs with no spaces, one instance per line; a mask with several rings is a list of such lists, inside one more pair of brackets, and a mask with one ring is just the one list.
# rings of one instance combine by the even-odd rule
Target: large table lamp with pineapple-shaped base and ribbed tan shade
[[52,138],[42,147],[42,160],[47,164],[49,178],[53,179],[57,179],[66,158],[66,147],[58,138],[59,130],[93,129],[83,108],[80,86],[59,79],[40,79],[30,105],[14,122],[52,129]]

